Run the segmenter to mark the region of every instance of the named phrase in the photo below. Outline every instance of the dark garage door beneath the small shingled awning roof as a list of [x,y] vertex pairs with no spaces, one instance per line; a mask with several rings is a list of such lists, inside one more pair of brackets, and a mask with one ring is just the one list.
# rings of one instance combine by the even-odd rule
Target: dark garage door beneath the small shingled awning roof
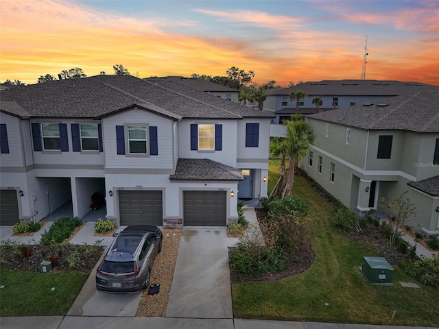
[[226,226],[226,191],[184,191],[185,226]]

